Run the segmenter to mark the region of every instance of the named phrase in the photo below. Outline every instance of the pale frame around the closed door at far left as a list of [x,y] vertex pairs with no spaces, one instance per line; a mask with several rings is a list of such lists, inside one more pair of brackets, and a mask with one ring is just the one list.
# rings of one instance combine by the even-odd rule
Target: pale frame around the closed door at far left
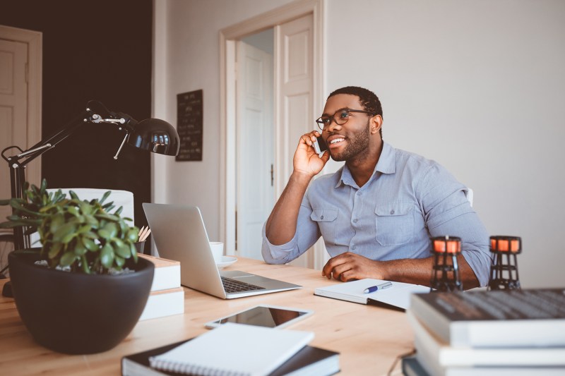
[[[12,28],[0,25],[0,39],[21,42],[28,45],[28,145],[18,145],[25,150],[41,140],[41,99],[42,99],[42,32]],[[4,163],[4,160],[0,161]],[[41,183],[41,157],[26,166],[26,181],[38,185]]]

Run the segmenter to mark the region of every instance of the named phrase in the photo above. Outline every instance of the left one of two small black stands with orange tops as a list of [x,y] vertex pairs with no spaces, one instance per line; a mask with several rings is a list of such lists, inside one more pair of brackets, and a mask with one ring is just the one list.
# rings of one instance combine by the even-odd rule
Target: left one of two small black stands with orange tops
[[457,263],[457,256],[461,253],[461,239],[456,236],[432,238],[432,253],[432,291],[462,291],[463,284]]

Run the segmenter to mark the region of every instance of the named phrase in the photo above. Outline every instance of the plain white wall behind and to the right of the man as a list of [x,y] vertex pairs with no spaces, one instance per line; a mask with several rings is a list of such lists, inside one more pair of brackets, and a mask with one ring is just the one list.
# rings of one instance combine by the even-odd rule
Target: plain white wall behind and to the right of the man
[[331,0],[327,11],[328,90],[374,90],[384,140],[473,188],[490,234],[522,237],[522,285],[565,286],[565,1]]

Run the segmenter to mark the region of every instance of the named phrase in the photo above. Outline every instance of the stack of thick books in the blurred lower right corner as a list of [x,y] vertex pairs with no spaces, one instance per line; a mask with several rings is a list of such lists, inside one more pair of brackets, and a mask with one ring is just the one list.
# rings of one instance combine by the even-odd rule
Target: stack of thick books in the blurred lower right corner
[[414,294],[405,375],[565,375],[565,289]]

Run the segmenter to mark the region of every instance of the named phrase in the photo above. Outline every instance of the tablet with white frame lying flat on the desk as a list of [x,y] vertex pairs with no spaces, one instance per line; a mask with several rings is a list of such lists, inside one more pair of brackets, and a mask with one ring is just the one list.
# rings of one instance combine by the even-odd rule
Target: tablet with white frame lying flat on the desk
[[261,304],[247,308],[229,316],[206,322],[208,328],[218,327],[226,322],[236,324],[257,325],[259,327],[283,328],[312,315],[314,311],[302,308],[280,307],[278,305]]

